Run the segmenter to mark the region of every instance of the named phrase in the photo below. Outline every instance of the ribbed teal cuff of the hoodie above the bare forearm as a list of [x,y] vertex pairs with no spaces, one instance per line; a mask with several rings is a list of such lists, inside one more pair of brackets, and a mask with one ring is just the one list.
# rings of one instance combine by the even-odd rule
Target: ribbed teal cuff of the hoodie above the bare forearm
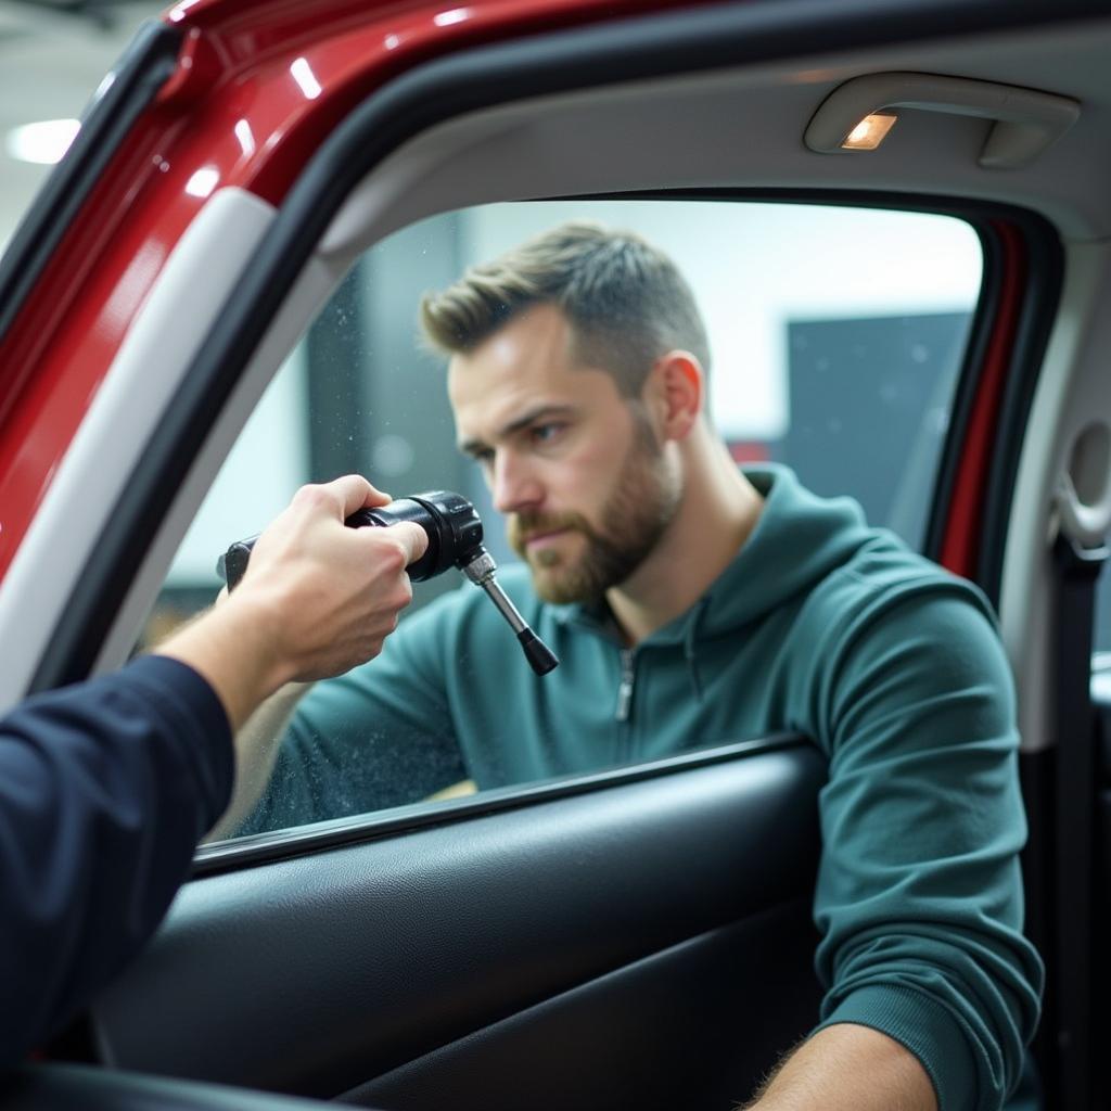
[[968,1039],[952,1012],[929,995],[895,984],[860,988],[814,1033],[844,1022],[878,1030],[913,1053],[933,1084],[939,1111],[978,1107],[978,1070]]

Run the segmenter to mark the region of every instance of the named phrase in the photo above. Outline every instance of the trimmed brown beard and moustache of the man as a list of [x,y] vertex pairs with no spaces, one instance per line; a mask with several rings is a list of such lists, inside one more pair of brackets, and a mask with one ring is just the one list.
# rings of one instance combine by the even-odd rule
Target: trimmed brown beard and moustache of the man
[[[637,434],[602,508],[599,529],[573,512],[514,513],[509,519],[509,542],[529,564],[532,584],[544,601],[598,602],[640,567],[674,519],[681,486],[669,472],[647,418],[634,410],[633,419]],[[563,529],[582,536],[581,556],[568,558],[554,549],[529,553],[529,537]]]

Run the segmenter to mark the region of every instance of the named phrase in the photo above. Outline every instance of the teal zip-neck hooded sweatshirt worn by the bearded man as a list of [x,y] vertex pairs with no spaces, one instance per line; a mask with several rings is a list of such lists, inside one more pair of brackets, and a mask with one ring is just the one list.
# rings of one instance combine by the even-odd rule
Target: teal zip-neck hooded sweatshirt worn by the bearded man
[[798,731],[828,758],[814,891],[819,1027],[881,1030],[942,1111],[1018,1082],[1042,970],[1021,933],[1025,838],[1012,681],[970,583],[782,467],[732,563],[627,650],[607,613],[501,574],[559,668],[532,674],[469,584],[404,619],[382,654],[319,683],[242,832]]

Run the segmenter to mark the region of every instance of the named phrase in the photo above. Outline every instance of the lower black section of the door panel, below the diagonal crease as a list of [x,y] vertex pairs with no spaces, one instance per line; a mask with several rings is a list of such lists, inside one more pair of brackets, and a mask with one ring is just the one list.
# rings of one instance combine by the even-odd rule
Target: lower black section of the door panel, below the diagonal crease
[[810,900],[681,942],[434,1050],[343,1102],[563,1111],[748,1099],[817,1014]]

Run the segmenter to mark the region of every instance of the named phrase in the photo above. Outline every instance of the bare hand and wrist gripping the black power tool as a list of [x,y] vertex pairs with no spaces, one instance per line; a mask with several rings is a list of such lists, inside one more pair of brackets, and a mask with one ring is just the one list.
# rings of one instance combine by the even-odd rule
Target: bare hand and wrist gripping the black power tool
[[341,674],[382,650],[412,600],[406,567],[428,537],[411,522],[343,521],[389,500],[357,474],[303,487],[259,538],[231,595],[158,649],[211,683],[233,729],[284,683]]

